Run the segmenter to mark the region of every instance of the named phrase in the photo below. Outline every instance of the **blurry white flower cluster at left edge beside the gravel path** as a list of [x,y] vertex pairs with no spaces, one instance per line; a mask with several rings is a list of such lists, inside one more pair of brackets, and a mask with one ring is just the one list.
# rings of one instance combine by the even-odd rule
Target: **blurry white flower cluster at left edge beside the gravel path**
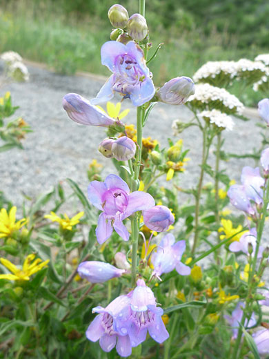
[[17,52],[7,51],[0,55],[6,64],[6,74],[15,81],[28,81],[29,72],[22,62],[22,57]]

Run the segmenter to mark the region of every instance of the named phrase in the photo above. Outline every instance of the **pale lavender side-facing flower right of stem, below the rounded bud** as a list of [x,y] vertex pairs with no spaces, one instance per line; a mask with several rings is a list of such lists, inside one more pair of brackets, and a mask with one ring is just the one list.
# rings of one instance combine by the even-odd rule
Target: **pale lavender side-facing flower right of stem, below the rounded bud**
[[151,262],[154,265],[152,275],[158,278],[162,273],[169,273],[176,269],[181,275],[189,275],[190,267],[181,262],[181,257],[186,249],[186,242],[180,240],[175,243],[175,237],[168,233],[161,240],[157,252],[152,254]]

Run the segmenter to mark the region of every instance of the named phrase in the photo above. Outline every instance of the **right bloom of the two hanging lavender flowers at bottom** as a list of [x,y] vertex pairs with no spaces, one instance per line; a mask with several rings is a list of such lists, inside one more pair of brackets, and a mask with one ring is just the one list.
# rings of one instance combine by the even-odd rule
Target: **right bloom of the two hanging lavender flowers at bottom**
[[169,337],[161,319],[163,309],[157,307],[152,290],[143,280],[128,294],[130,304],[116,318],[116,328],[121,335],[128,334],[132,347],[146,340],[147,332],[156,342],[162,343]]

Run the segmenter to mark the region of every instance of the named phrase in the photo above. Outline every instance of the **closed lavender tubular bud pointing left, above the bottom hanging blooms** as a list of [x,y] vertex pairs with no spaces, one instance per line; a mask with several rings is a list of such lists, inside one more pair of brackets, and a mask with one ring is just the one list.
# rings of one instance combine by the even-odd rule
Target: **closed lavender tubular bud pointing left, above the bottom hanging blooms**
[[88,261],[79,264],[79,276],[92,283],[103,283],[112,278],[120,277],[125,271],[109,263]]

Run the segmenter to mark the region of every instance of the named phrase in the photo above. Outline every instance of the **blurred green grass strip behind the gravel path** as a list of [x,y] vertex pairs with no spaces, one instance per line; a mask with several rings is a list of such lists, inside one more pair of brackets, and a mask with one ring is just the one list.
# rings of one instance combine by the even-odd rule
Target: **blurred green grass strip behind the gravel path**
[[[150,23],[148,25],[150,29]],[[100,20],[66,19],[48,9],[42,14],[34,14],[33,9],[26,7],[12,11],[7,9],[0,12],[0,33],[0,52],[14,50],[26,59],[46,63],[60,73],[72,74],[83,70],[109,75],[109,71],[101,66],[100,48],[110,39],[110,26],[107,23],[103,26]],[[172,77],[192,77],[206,61],[237,60],[241,57],[253,59],[264,52],[253,46],[238,48],[237,39],[227,32],[219,34],[212,30],[210,35],[205,36],[199,30],[190,30],[178,38],[173,38],[171,34],[171,30],[155,29],[150,32],[151,53],[158,43],[164,43],[157,58],[150,63],[156,86]],[[234,92],[242,98],[237,88]],[[260,99],[261,95],[248,90],[243,97],[249,104],[253,99]]]

